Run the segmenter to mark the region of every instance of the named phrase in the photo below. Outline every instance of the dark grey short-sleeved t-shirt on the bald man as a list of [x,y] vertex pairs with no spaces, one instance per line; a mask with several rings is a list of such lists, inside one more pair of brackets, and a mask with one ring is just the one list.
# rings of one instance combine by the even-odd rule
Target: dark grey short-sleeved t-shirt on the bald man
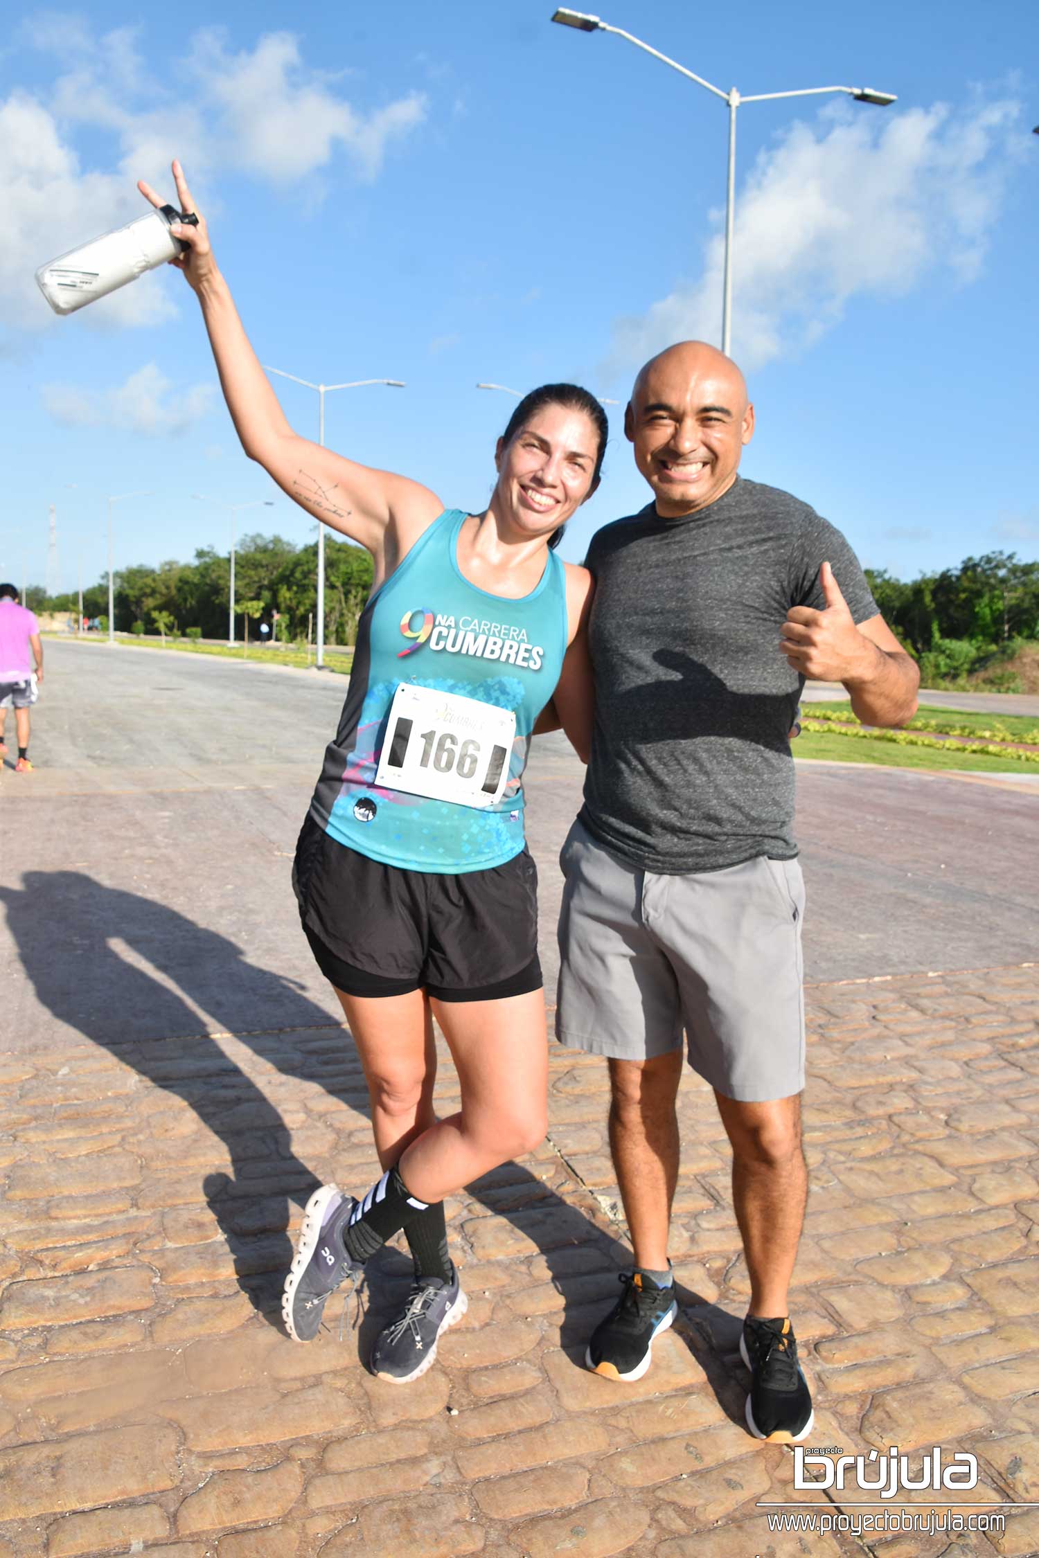
[[779,629],[791,606],[826,606],[824,561],[854,620],[874,617],[841,533],[760,481],[737,478],[682,519],[650,503],[592,538],[581,821],[618,858],[682,874],[798,854],[788,732],[804,676]]

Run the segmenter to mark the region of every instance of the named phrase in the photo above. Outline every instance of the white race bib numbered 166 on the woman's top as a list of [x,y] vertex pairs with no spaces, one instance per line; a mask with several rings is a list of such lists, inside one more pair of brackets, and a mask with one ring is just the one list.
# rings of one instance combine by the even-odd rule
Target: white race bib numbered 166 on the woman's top
[[402,682],[375,784],[456,805],[494,805],[509,776],[516,714],[480,698]]

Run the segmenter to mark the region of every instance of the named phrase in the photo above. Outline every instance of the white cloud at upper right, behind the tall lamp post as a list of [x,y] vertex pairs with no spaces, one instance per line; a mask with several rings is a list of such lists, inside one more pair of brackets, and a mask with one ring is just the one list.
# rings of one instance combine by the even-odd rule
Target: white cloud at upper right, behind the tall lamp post
[[[860,296],[899,296],[936,273],[977,277],[1025,140],[1016,101],[827,109],[763,151],[737,192],[732,355],[745,368],[810,346]],[[620,319],[608,369],[671,341],[720,341],[723,213],[703,274]]]

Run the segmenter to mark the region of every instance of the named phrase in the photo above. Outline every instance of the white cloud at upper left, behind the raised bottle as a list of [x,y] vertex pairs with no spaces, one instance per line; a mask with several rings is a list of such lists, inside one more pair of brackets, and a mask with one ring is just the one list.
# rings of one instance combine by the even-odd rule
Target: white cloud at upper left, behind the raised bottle
[[[371,112],[355,109],[336,90],[341,73],[305,67],[288,33],[262,36],[237,55],[217,30],[196,33],[187,59],[165,72],[168,87],[142,56],[136,28],[95,36],[76,17],[47,12],[26,22],[19,39],[58,62],[45,93],[16,89],[0,100],[0,323],[19,329],[55,323],[34,271],[142,215],[137,179],[170,190],[174,154],[199,206],[212,210],[217,170],[299,184],[343,151],[357,176],[371,181],[386,150],[425,117],[425,98],[414,92]],[[76,151],[84,129],[114,142],[104,170],[84,167]],[[313,203],[315,195],[312,179],[301,198]],[[157,271],[78,319],[101,329],[154,326],[178,312],[174,288],[182,287]]]

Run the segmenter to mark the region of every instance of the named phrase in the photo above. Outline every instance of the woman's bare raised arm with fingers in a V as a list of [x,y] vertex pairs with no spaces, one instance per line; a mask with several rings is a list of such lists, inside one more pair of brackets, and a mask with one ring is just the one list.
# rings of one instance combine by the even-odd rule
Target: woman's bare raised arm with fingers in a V
[[[417,481],[344,460],[293,432],[217,268],[206,221],[195,210],[179,162],[173,164],[173,179],[181,212],[195,212],[198,226],[171,229],[187,248],[170,263],[184,273],[201,304],[220,385],[246,455],[301,508],[368,547],[377,562],[391,527],[397,531],[393,550],[402,539],[407,550],[407,533],[424,530],[442,503]],[[139,182],[137,189],[153,206],[164,204],[148,184]]]

